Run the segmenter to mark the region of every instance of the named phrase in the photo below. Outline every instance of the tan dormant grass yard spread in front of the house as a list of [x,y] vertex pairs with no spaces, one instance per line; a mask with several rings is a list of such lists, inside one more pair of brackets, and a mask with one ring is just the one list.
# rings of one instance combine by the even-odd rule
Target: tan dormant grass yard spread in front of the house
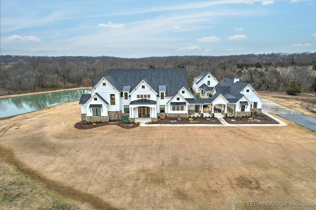
[[316,133],[290,121],[78,130],[79,119],[78,102],[2,119],[0,160],[81,209],[283,210],[301,206],[247,202],[316,202]]

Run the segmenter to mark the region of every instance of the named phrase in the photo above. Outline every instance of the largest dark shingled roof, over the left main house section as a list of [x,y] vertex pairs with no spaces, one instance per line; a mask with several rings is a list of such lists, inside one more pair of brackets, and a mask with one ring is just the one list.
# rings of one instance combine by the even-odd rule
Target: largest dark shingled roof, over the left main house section
[[[96,77],[93,87],[102,79]],[[158,93],[159,85],[166,85],[165,96],[175,96],[178,91],[185,87],[188,90],[188,78],[186,69],[112,69],[105,77],[119,92],[126,85],[131,86],[131,91],[144,80],[153,90]],[[189,90],[188,90],[189,91]]]

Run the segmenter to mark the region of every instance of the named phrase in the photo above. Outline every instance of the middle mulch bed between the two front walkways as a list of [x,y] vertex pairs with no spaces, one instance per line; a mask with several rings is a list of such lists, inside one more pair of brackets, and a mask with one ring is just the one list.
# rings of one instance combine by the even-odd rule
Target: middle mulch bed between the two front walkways
[[221,122],[215,117],[209,117],[210,121],[206,120],[207,117],[192,117],[193,121],[189,121],[189,117],[181,118],[177,120],[177,117],[166,117],[164,119],[158,119],[157,124],[221,124]]

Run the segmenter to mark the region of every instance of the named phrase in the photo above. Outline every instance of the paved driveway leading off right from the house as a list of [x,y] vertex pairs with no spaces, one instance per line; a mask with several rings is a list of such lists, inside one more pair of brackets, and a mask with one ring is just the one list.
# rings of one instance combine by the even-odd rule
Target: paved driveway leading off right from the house
[[271,112],[287,120],[291,120],[301,126],[304,126],[316,132],[316,118],[301,114],[301,112],[294,109],[276,104],[270,100],[265,99],[262,104],[262,112]]

